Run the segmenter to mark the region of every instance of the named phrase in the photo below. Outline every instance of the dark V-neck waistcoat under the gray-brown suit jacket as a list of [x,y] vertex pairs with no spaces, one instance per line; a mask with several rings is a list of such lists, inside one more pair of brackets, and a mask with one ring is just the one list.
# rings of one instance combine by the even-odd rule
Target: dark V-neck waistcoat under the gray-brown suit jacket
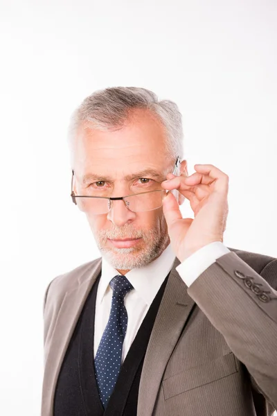
[[100,276],[91,288],[57,379],[53,416],[134,416],[150,333],[168,276],[161,285],[120,368],[107,408],[100,401],[93,358],[94,314]]

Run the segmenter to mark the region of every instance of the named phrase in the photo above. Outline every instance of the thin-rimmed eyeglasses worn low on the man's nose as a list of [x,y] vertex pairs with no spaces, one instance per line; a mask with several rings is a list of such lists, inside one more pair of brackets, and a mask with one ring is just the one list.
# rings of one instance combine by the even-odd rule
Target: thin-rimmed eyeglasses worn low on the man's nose
[[[176,173],[179,166],[180,159],[177,157],[173,174]],[[158,189],[155,191],[146,191],[141,193],[133,193],[132,195],[120,196],[118,198],[111,198],[106,196],[87,196],[75,195],[73,191],[73,175],[71,179],[71,198],[75,205],[78,205],[80,211],[89,212],[90,214],[107,214],[112,202],[116,200],[123,200],[125,207],[133,212],[153,211],[161,208],[163,205],[163,198],[165,198],[167,191],[165,189]]]

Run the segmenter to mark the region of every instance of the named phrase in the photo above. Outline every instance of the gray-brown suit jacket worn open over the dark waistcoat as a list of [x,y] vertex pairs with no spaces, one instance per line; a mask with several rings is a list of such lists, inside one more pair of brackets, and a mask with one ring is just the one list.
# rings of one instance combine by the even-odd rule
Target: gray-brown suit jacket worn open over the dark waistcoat
[[[154,322],[138,416],[264,416],[277,408],[277,259],[230,249],[188,288],[175,268]],[[101,259],[60,275],[44,300],[42,416]]]

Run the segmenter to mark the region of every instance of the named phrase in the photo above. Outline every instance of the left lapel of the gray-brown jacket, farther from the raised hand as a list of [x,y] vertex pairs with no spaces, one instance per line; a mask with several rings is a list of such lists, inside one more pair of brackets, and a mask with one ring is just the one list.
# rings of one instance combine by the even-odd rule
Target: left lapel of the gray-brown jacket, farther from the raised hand
[[93,286],[101,270],[99,261],[87,275],[82,276],[82,281],[73,291],[66,292],[64,300],[57,315],[55,329],[51,337],[44,368],[44,382],[42,390],[42,416],[53,415],[53,399],[60,367],[69,345],[69,341],[78,322],[78,318],[87,300],[89,291]]

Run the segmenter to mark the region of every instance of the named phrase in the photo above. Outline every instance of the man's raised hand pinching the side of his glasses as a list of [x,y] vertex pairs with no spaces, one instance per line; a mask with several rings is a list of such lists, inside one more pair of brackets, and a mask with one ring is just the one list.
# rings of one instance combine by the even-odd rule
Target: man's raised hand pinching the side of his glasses
[[164,189],[178,191],[190,201],[195,218],[182,218],[172,193],[163,200],[163,213],[168,224],[170,242],[182,262],[213,241],[222,241],[228,216],[229,177],[211,164],[196,164],[188,177],[169,173]]

